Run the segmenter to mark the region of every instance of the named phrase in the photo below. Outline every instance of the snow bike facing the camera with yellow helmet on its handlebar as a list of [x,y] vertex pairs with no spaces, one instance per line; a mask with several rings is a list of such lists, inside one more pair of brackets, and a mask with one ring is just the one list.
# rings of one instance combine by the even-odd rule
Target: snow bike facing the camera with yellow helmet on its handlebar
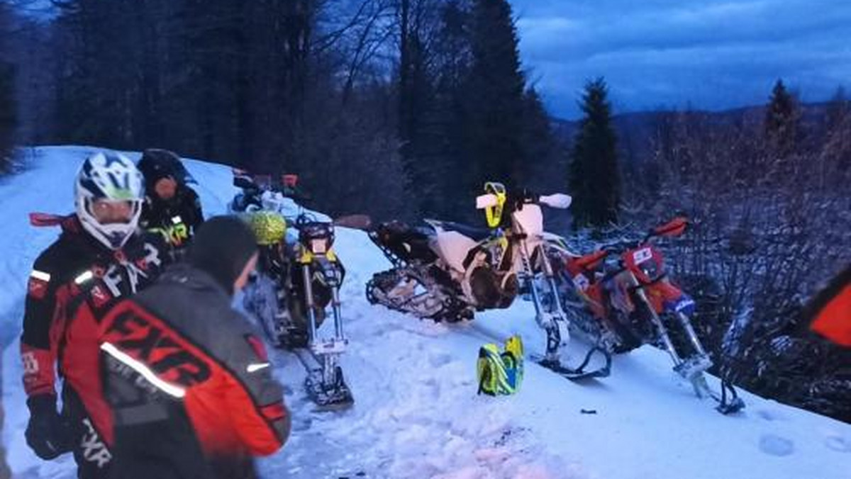
[[[235,176],[235,184],[262,193],[243,213],[260,249],[256,271],[243,290],[243,307],[272,346],[299,357],[308,372],[311,400],[321,408],[349,406],[354,400],[340,368],[348,345],[340,309],[346,270],[334,253],[334,223],[303,210],[288,221],[284,214],[294,205],[289,198],[245,181]],[[288,241],[287,233],[293,230],[294,241]],[[330,337],[323,337],[319,331],[328,307],[334,328]]]

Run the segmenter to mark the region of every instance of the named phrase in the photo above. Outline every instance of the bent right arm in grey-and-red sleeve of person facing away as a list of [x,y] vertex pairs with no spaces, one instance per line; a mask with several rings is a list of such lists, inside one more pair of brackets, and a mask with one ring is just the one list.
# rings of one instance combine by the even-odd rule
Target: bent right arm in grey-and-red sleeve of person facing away
[[253,454],[274,453],[287,442],[291,420],[263,342],[250,334],[235,339],[227,363],[235,377],[228,378],[224,399],[237,435]]

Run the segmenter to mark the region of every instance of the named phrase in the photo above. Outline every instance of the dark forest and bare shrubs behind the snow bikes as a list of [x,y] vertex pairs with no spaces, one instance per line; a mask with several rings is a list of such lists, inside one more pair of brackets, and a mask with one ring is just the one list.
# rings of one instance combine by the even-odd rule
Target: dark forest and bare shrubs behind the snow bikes
[[595,241],[684,212],[665,251],[718,372],[851,421],[851,353],[800,314],[851,263],[842,88],[807,105],[778,80],[751,108],[619,115],[597,77],[573,86],[568,122],[529,80],[506,0],[34,5],[0,2],[3,169],[12,145],[163,147],[300,174],[331,214],[469,222],[497,180],[569,192],[572,220],[553,225]]

